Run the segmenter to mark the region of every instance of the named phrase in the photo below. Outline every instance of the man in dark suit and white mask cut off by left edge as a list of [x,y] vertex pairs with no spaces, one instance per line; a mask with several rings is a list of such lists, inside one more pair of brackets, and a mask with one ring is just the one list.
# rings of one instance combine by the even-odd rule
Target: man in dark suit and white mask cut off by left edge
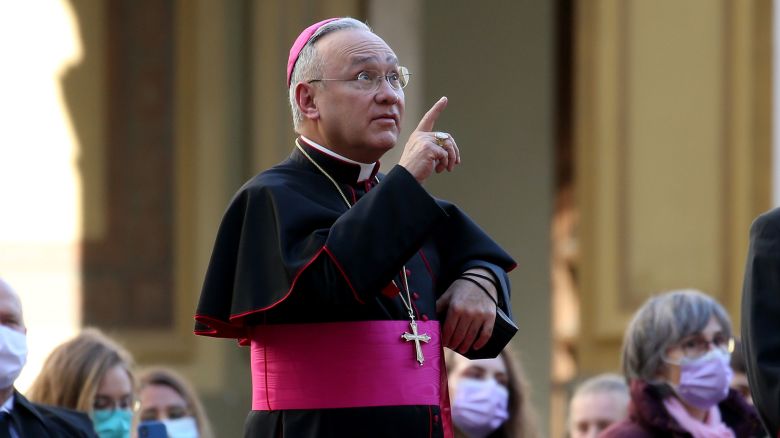
[[85,414],[30,402],[14,389],[27,360],[22,303],[0,279],[0,438],[97,437]]

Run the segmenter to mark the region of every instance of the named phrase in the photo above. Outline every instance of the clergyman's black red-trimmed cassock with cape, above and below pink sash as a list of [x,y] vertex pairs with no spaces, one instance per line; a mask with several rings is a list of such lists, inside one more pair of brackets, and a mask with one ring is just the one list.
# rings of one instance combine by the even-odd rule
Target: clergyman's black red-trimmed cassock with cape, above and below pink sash
[[[439,319],[436,299],[472,267],[493,272],[510,314],[506,273],[515,263],[457,207],[401,166],[358,183],[358,165],[301,144],[352,208],[297,149],[247,182],[222,219],[196,334],[245,344],[258,324],[408,321],[388,287],[404,265],[419,321]],[[437,405],[251,411],[246,436],[442,436],[442,421]]]

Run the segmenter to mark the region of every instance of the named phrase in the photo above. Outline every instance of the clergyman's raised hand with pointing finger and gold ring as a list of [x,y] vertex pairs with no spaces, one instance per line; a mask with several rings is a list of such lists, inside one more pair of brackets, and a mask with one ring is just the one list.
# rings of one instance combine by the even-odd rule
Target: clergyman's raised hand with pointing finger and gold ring
[[[422,117],[417,128],[409,136],[398,162],[414,178],[422,183],[433,172],[441,173],[445,169],[452,172],[460,164],[460,150],[451,135],[445,134],[445,140],[437,139],[433,130],[439,115],[447,107],[447,98],[439,99]],[[443,133],[439,133],[441,135]]]

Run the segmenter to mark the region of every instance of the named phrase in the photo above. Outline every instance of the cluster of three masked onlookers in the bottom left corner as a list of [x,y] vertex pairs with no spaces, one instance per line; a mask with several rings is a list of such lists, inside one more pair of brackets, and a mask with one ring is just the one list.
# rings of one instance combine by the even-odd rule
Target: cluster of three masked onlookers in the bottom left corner
[[137,370],[94,328],[56,347],[26,394],[14,381],[27,357],[21,300],[0,279],[0,437],[212,438],[190,384],[174,370]]

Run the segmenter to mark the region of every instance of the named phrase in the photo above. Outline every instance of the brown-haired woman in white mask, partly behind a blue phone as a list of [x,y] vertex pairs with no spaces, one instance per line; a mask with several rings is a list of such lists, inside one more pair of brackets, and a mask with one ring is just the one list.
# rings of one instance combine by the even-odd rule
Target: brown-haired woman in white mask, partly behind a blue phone
[[133,431],[144,421],[162,422],[168,438],[214,437],[197,393],[189,382],[169,368],[150,368],[138,376]]

